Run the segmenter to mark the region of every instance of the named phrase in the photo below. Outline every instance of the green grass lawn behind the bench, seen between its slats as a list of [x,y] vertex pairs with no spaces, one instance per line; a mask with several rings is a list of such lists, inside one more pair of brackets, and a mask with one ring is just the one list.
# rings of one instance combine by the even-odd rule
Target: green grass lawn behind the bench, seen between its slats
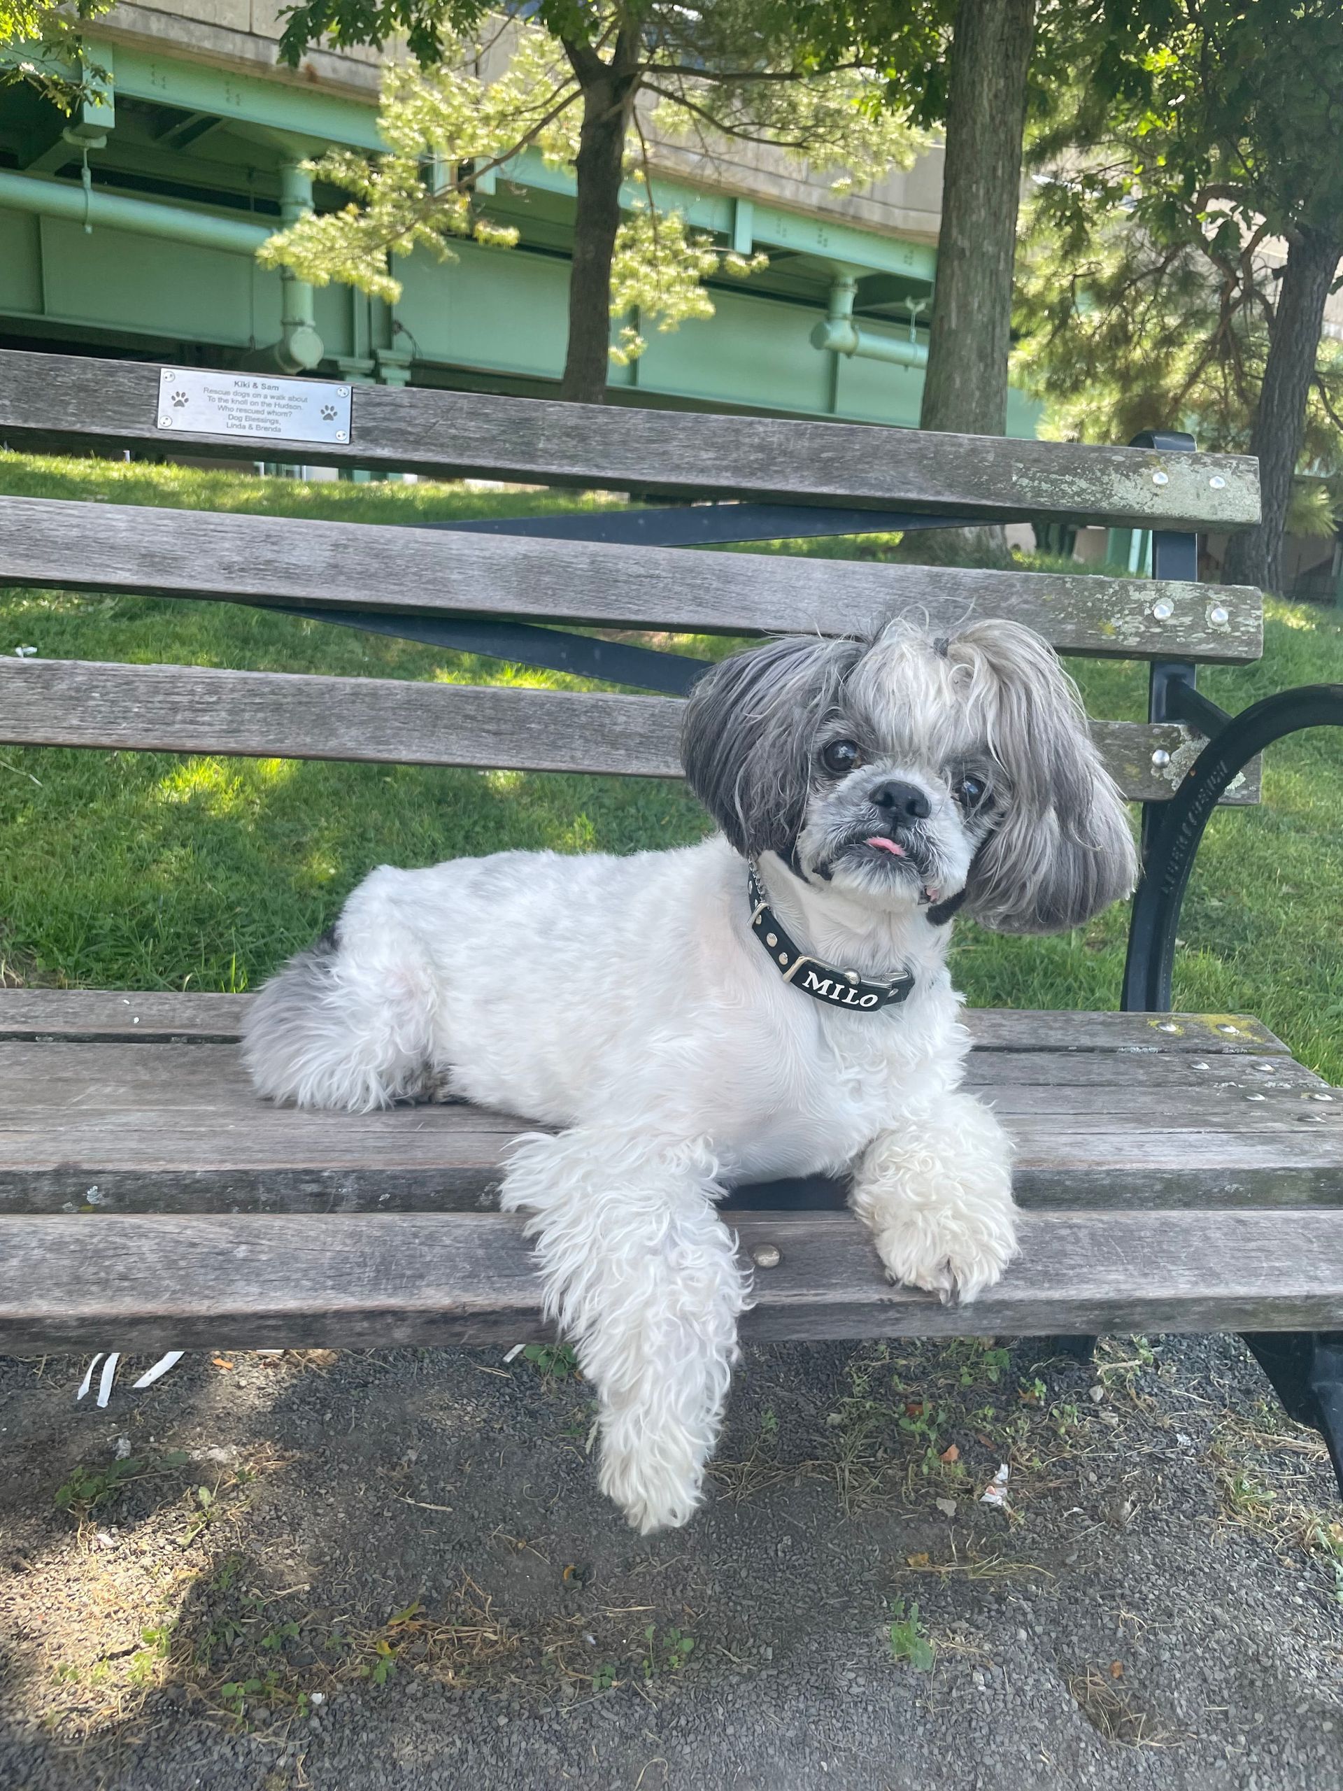
[[[0,453],[0,491],[385,523],[607,501],[13,453]],[[222,604],[0,591],[0,654],[20,645],[48,659],[575,682]],[[1141,666],[1074,661],[1071,670],[1092,715],[1142,716]],[[1270,605],[1259,664],[1202,679],[1232,711],[1314,682],[1343,682],[1339,616],[1284,604]],[[1304,1062],[1343,1080],[1343,736],[1316,729],[1275,747],[1264,790],[1262,808],[1223,811],[1209,827],[1185,904],[1176,1005],[1259,1014]],[[646,779],[0,747],[0,976],[247,989],[315,937],[376,863],[500,847],[636,851],[706,829],[680,784]],[[1040,940],[962,924],[956,978],[976,1007],[1108,1008],[1125,928],[1123,910]]]

